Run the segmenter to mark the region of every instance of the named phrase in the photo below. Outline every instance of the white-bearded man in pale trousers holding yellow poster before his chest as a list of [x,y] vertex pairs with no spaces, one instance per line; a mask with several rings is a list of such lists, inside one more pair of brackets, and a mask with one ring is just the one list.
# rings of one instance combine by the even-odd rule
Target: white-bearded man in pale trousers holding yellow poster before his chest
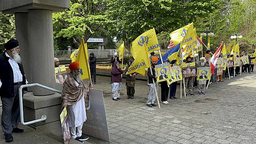
[[[198,62],[198,64],[196,64],[196,70],[197,70],[197,68],[200,68],[200,67],[208,67],[209,66],[208,64],[206,64],[204,62],[204,60],[205,60],[204,57],[200,58],[200,62]],[[205,95],[205,92],[204,92],[205,85],[206,85],[206,80],[198,80],[198,82],[197,82],[197,89],[198,89],[198,94],[199,95],[201,95],[201,94]]]

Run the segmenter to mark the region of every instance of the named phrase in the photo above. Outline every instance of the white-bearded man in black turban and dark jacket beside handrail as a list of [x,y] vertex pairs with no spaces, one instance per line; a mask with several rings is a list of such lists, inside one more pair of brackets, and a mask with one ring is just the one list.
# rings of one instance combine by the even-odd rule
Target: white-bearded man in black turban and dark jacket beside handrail
[[[2,100],[2,130],[5,141],[13,141],[12,132],[22,133],[18,128],[20,118],[19,88],[26,84],[26,78],[19,55],[20,47],[17,40],[11,39],[4,44],[6,49],[0,54],[0,97]],[[23,89],[26,93],[27,89]]]

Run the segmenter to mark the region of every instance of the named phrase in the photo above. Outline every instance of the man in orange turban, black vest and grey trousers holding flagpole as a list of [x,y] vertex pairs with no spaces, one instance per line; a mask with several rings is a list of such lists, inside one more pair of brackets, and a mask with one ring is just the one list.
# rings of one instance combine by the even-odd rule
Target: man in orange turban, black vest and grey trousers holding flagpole
[[[158,92],[158,82],[156,82],[156,71],[155,71],[155,66],[158,62],[158,58],[157,57],[152,57],[151,58],[151,62],[152,62],[152,73],[150,72],[150,68],[148,68],[148,84],[149,84],[149,87],[150,87],[150,91],[149,91],[149,94],[148,94],[148,101],[147,101],[147,104],[146,106],[149,106],[149,107],[152,107],[152,106],[156,106],[156,104],[154,104],[155,100],[156,100],[156,92]],[[153,83],[153,80],[155,82],[155,85],[156,85],[156,92],[155,92],[155,89],[154,89],[154,83]]]

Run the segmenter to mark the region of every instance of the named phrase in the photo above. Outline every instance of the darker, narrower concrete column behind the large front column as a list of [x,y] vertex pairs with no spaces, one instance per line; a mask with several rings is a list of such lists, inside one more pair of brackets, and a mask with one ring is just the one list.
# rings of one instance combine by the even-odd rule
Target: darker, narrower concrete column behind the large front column
[[15,13],[15,27],[16,38],[19,41],[20,56],[22,58],[26,79],[28,80],[28,83],[32,83],[31,49],[29,47],[29,24],[27,12]]

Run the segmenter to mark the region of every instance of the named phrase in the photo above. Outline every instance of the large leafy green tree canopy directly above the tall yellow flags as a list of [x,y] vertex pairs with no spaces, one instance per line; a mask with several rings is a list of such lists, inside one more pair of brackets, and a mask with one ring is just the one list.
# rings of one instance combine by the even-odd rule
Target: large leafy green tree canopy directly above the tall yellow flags
[[173,31],[212,12],[222,0],[104,0],[107,10],[108,30],[118,40],[130,43],[137,36],[155,28],[156,32]]

